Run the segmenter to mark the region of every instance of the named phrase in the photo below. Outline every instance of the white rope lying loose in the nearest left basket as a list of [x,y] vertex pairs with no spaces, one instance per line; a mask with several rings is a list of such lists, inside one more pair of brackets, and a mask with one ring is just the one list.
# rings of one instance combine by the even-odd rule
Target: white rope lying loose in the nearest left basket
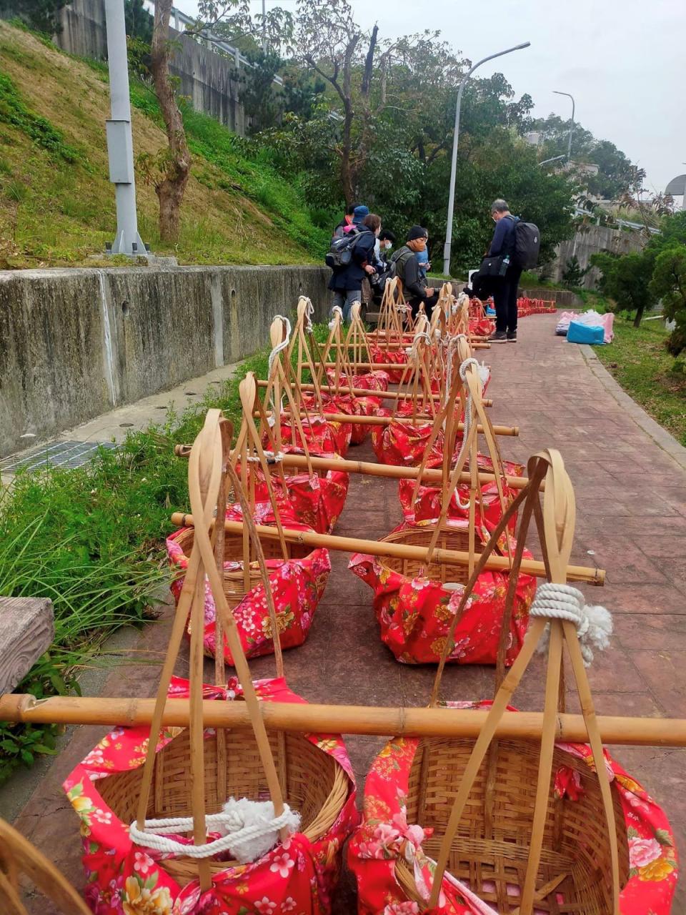
[[[232,800],[230,799],[230,802]],[[244,801],[245,799],[242,800]],[[230,802],[227,803],[227,806],[229,806]],[[240,803],[234,802],[233,809],[222,811],[222,813],[209,813],[205,817],[205,823],[208,827],[219,827],[220,830],[228,832],[228,834],[222,835],[219,839],[213,839],[205,845],[184,845],[182,842],[177,842],[176,839],[167,837],[168,834],[185,833],[191,830],[193,828],[193,818],[190,816],[165,820],[145,820],[143,829],[138,829],[134,822],[129,827],[129,834],[136,845],[144,845],[145,848],[153,848],[158,852],[191,858],[207,858],[219,855],[220,852],[230,851],[241,863],[247,864],[249,861],[254,860],[247,853],[251,851],[250,846],[254,845],[255,840],[259,840],[261,845],[264,845],[264,841],[271,839],[273,836],[271,845],[267,845],[265,849],[265,851],[268,851],[275,844],[280,830],[286,827],[289,831],[295,832],[300,825],[300,814],[292,811],[288,804],[284,804],[284,813],[281,816],[266,818],[262,813],[258,812],[254,816],[254,822],[245,823],[246,817],[241,812]],[[273,813],[271,802],[267,802],[265,806],[271,807]]]

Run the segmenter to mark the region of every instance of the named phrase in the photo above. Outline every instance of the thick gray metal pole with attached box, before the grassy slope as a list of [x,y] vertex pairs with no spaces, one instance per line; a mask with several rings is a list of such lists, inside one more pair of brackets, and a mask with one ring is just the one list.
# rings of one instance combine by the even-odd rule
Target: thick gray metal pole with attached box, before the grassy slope
[[105,124],[110,180],[114,185],[117,204],[117,234],[112,253],[145,255],[145,244],[138,234],[135,210],[134,142],[131,135],[123,0],[105,0],[105,22],[112,105],[112,117]]

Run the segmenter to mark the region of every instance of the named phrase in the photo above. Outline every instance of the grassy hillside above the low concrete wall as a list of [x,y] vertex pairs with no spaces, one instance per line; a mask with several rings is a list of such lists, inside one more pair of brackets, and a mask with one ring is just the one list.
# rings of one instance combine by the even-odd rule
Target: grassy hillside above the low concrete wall
[[[155,95],[132,82],[134,157],[166,145]],[[0,22],[0,268],[82,264],[116,226],[108,180],[107,70]],[[155,189],[136,174],[139,229],[180,264],[319,261],[327,231],[283,178],[216,121],[184,112],[192,176],[174,246],[159,241]],[[92,263],[88,261],[88,263]]]

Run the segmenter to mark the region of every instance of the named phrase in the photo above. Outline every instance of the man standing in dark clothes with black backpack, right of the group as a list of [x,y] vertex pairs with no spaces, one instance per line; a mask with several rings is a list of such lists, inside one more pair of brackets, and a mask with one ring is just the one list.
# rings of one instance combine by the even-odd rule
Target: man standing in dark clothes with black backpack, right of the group
[[522,270],[536,266],[541,238],[533,223],[522,222],[510,213],[505,200],[494,200],[490,215],[496,223],[496,231],[484,264],[488,262],[489,273],[495,267],[498,269],[493,275],[496,330],[489,339],[491,343],[516,343],[520,276]]

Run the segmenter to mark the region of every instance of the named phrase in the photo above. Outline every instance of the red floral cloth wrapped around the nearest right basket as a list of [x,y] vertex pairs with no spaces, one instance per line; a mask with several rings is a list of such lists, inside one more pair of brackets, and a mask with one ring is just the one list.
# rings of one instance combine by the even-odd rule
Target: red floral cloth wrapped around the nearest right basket
[[[489,703],[447,705],[482,708]],[[359,915],[419,915],[420,911],[425,915],[498,915],[478,899],[480,887],[470,887],[447,872],[439,905],[431,910],[420,910],[409,900],[395,877],[396,861],[402,857],[413,865],[417,888],[428,900],[435,862],[424,854],[422,843],[433,831],[421,824],[408,824],[406,816],[410,770],[419,745],[416,737],[396,737],[374,759],[367,775],[362,823],[348,844],[348,867],[358,882]],[[593,754],[586,744],[558,747],[583,759],[595,771]],[[670,915],[678,858],[667,816],[607,752],[604,763],[619,794],[627,828],[630,869],[619,897],[621,915]],[[565,770],[569,771],[561,767],[558,778]],[[573,801],[569,793],[568,802]],[[518,888],[513,890],[518,892]],[[567,910],[563,893],[557,894],[557,903],[561,911]],[[512,905],[516,905],[514,898]]]

